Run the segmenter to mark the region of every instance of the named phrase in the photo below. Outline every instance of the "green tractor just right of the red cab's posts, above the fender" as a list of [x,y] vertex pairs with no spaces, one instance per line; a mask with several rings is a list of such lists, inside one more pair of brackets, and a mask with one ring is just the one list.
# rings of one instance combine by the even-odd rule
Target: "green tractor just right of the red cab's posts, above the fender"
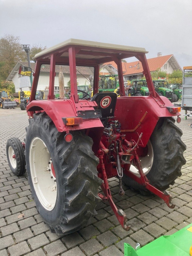
[[173,102],[175,100],[175,95],[173,93],[173,90],[167,88],[168,82],[161,79],[161,80],[153,80],[153,85],[155,87],[155,91],[160,96],[165,96],[167,99],[170,100],[170,102]]

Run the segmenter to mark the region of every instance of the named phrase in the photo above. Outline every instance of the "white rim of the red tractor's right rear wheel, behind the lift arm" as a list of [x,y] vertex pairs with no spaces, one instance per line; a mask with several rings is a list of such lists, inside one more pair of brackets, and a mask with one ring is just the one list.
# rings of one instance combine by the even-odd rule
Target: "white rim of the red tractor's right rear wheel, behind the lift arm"
[[[151,167],[153,165],[153,148],[152,148],[150,141],[148,141],[147,147],[148,147],[147,155],[144,157],[139,157],[139,159],[141,161],[141,166],[143,168],[143,173],[145,175],[150,172]],[[131,164],[131,166],[130,166],[130,172],[132,172],[136,176],[140,177],[137,167],[134,166],[133,164]]]

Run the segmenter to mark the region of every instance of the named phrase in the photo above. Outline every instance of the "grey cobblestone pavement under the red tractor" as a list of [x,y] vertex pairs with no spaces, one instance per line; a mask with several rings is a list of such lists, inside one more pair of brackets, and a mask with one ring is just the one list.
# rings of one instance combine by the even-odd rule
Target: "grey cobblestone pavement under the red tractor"
[[[168,208],[156,196],[142,196],[127,187],[125,196],[118,196],[118,182],[110,179],[109,185],[114,201],[123,209],[131,225],[129,232],[123,230],[108,204],[97,205],[98,215],[91,218],[87,227],[67,236],[58,237],[49,231],[38,214],[31,198],[27,174],[13,175],[7,164],[6,142],[16,136],[25,137],[28,118],[20,109],[0,109],[0,256],[41,255],[124,255],[123,243],[135,247],[155,238],[173,234],[192,222],[192,119],[177,124],[183,131],[182,139],[187,145],[184,153],[186,164],[182,176],[170,187],[174,209]],[[23,217],[22,215],[23,214]]]

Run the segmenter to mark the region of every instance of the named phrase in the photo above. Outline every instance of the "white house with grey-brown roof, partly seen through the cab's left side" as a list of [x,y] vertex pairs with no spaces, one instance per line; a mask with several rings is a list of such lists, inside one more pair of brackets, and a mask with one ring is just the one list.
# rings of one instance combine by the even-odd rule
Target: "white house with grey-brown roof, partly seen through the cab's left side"
[[[18,74],[19,67],[20,66],[27,66],[28,67],[28,62],[17,62],[13,70],[10,72],[9,76],[7,77],[7,81],[13,81],[15,85],[15,92],[19,92],[20,90],[22,91],[30,91],[31,90],[31,84],[30,84],[30,78],[26,76],[22,76]],[[31,62],[31,69],[34,72],[35,71],[35,63]],[[45,90],[46,87],[49,86],[49,70],[50,70],[50,65],[42,65],[40,74],[39,74],[39,80],[38,80],[38,86],[37,90]],[[110,68],[108,67],[108,70]],[[55,93],[58,92],[59,90],[59,66],[55,67]],[[67,83],[70,80],[70,72],[69,72],[69,66],[62,66],[62,72],[64,76],[64,86],[67,86]],[[89,77],[93,75],[93,68],[91,67],[77,67],[77,82],[80,85],[90,84]]]

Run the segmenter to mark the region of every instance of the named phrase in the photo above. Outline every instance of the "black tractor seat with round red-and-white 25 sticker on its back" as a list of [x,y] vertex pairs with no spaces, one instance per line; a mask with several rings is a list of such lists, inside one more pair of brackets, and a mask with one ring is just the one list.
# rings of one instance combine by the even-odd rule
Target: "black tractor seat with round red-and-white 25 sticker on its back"
[[91,99],[91,101],[95,101],[97,103],[97,107],[94,109],[100,109],[102,118],[101,121],[105,121],[105,119],[109,116],[114,116],[115,106],[117,102],[117,94],[114,92],[98,92],[95,93]]

